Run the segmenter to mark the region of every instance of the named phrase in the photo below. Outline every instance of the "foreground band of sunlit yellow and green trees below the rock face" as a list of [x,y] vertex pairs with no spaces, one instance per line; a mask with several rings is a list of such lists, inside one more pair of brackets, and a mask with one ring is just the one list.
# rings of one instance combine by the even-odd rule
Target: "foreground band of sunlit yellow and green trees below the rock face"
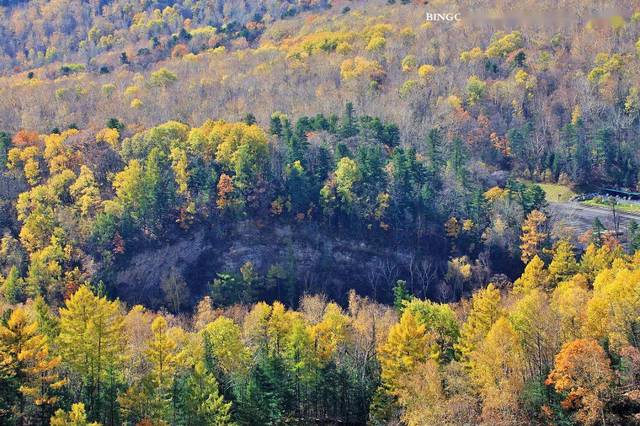
[[[395,288],[193,315],[83,285],[6,307],[0,418],[103,424],[636,424],[640,261],[562,242],[513,289],[447,305]],[[73,405],[72,405],[73,404]],[[94,423],[92,423],[94,424]]]

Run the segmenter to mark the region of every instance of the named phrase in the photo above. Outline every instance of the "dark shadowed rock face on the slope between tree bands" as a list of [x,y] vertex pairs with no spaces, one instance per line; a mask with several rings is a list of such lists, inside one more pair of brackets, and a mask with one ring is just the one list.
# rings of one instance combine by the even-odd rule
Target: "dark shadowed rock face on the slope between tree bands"
[[171,271],[182,275],[195,299],[218,273],[237,274],[251,262],[261,276],[274,265],[293,272],[299,294],[322,292],[344,300],[355,289],[389,301],[398,279],[420,291],[435,284],[435,275],[444,268],[445,244],[428,241],[421,244],[427,248],[424,255],[418,255],[417,250],[392,243],[329,236],[316,225],[244,221],[232,229],[199,229],[161,248],[137,253],[118,271],[114,284],[123,300],[157,307],[162,304],[160,284]]

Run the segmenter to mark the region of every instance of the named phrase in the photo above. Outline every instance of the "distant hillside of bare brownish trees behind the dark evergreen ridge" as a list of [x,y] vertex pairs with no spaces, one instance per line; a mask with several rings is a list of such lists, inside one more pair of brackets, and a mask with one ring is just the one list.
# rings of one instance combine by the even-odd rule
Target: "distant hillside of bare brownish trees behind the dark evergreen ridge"
[[[40,12],[37,1],[5,8],[3,38],[20,54],[4,61],[11,74],[0,80],[0,123],[12,133],[97,131],[117,118],[135,132],[252,113],[267,126],[275,111],[329,115],[353,102],[359,114],[396,123],[403,144],[416,148],[439,127],[494,166],[635,186],[640,16],[632,1],[436,2],[468,16],[446,24],[425,22],[421,4],[337,2],[291,18],[275,10],[324,9],[273,3],[149,3],[145,12],[107,2],[104,16],[87,12],[86,23],[75,16],[81,7],[64,2]],[[68,18],[73,36],[53,17],[21,17],[49,9]],[[527,9],[538,12],[524,19]],[[255,36],[229,30],[245,21],[260,28]],[[59,53],[42,64],[44,47],[29,38],[47,37],[66,45],[49,43]],[[119,41],[102,46],[103,38]],[[31,50],[38,53],[21,55]]]

